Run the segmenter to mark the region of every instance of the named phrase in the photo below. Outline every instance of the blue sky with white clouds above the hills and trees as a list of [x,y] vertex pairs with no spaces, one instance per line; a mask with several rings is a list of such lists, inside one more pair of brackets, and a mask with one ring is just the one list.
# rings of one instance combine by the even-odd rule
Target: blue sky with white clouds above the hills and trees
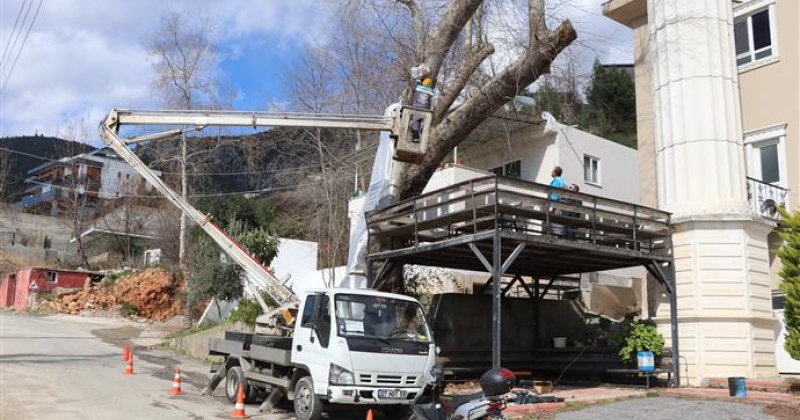
[[[554,19],[568,17],[575,25],[579,39],[570,55],[583,71],[595,57],[604,63],[632,62],[630,30],[603,17],[602,2],[548,1]],[[162,108],[161,97],[151,87],[155,71],[144,40],[171,11],[213,17],[221,70],[236,93],[234,108],[263,110],[286,103],[281,74],[291,68],[304,43],[325,39],[331,3],[3,0],[0,136],[58,135],[81,118],[94,125],[112,108]],[[15,21],[22,31],[12,36]],[[554,67],[558,71],[559,65]]]

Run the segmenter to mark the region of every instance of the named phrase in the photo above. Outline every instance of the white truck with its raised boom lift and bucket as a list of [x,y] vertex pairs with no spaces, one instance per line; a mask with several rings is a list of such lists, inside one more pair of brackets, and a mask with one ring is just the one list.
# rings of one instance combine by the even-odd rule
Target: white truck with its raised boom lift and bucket
[[[391,166],[393,158],[413,162],[424,152],[427,133],[410,140],[412,119],[424,119],[423,126],[428,126],[430,113],[399,105],[388,108],[382,117],[113,110],[101,123],[106,144],[242,266],[248,274],[245,285],[264,312],[257,321],[256,334],[227,332],[224,339],[211,341],[211,354],[224,356],[225,361],[204,393],[212,393],[225,379],[229,399],[235,399],[239,384],[244,384],[250,399],[267,394],[262,410],[271,409],[286,397],[293,401],[296,416],[303,420],[318,419],[326,407],[340,404],[380,406],[389,412],[390,418],[399,418],[422,391],[424,374],[435,364],[435,346],[422,308],[411,297],[364,288],[332,288],[306,292],[298,299],[208,216],[170,189],[128,145],[170,138],[207,126],[377,130],[391,136],[382,137],[378,157],[382,163],[376,159],[375,166],[387,166],[387,161]],[[119,134],[123,125],[180,128],[123,138]],[[388,158],[387,150],[390,150]],[[381,171],[384,175],[391,173],[390,168]],[[373,177],[376,172],[373,169]],[[370,185],[370,194],[374,184]],[[363,256],[363,252],[355,254]],[[363,273],[355,275],[363,277]],[[280,306],[268,307],[262,291]]]

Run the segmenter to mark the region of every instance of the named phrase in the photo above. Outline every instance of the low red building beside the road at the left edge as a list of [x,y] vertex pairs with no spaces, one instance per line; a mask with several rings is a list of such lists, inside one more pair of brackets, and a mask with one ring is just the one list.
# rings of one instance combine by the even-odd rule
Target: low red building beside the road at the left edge
[[0,308],[25,310],[35,293],[51,293],[56,289],[77,289],[87,281],[99,281],[102,274],[93,271],[61,270],[28,267],[9,273],[0,282]]

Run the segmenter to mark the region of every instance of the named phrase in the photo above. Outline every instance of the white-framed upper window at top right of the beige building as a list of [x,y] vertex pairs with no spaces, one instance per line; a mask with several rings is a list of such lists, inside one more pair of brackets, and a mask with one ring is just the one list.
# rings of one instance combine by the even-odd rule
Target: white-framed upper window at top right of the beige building
[[733,36],[736,46],[736,65],[747,68],[777,57],[774,2],[764,1],[742,5],[736,10]]

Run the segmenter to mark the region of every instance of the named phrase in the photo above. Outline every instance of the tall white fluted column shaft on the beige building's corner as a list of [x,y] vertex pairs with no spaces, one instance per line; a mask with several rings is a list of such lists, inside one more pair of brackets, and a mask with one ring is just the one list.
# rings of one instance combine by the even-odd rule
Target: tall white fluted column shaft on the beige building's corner
[[747,213],[730,0],[651,0],[648,16],[662,208]]

